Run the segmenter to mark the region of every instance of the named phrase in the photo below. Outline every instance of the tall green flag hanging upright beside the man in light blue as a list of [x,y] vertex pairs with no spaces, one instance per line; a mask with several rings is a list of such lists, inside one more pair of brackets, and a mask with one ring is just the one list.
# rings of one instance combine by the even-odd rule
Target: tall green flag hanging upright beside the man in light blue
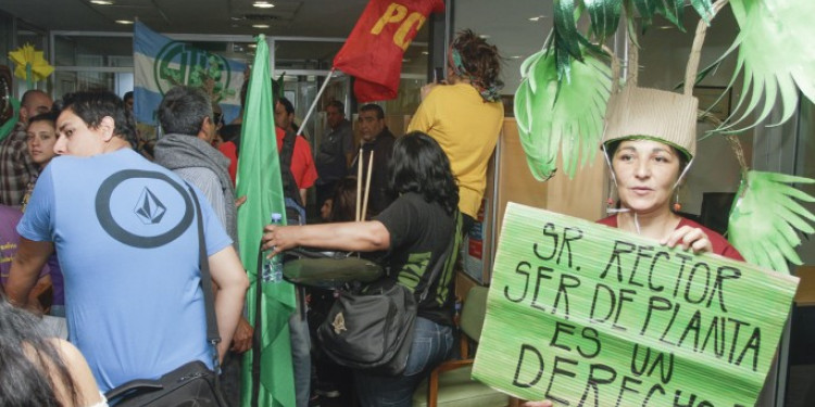
[[[247,202],[238,211],[240,259],[251,282],[247,292],[248,319],[255,327],[255,334],[260,334],[260,347],[255,344],[243,357],[242,405],[293,406],[289,317],[296,305],[294,288],[286,281],[262,282],[258,275],[263,227],[269,222],[272,213],[281,214],[285,222],[286,211],[275,137],[268,46],[263,35],[256,41],[243,107],[237,194],[247,196]],[[258,284],[261,284],[260,295]],[[252,361],[258,356],[260,377],[255,382]],[[253,403],[254,391],[258,399]]]

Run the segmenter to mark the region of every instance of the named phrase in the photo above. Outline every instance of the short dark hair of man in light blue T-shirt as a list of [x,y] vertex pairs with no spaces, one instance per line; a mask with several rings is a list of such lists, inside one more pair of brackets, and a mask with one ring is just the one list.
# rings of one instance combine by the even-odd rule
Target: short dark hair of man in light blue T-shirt
[[85,90],[68,93],[62,97],[60,111],[70,109],[74,114],[85,122],[88,128],[96,129],[102,123],[102,118],[113,118],[115,128],[113,135],[127,140],[130,145],[136,145],[136,122],[133,114],[115,93],[108,90]]

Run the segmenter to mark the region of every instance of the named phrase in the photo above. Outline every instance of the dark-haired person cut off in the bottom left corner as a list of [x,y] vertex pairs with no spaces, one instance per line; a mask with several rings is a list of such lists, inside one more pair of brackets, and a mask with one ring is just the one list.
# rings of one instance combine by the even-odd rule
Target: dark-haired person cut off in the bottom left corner
[[79,351],[43,338],[38,322],[0,291],[0,406],[106,406]]

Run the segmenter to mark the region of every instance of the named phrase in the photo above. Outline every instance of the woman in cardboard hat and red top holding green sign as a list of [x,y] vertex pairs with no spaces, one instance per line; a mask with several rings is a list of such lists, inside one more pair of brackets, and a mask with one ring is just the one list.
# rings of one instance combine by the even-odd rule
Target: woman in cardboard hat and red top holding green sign
[[[744,260],[720,234],[677,212],[672,196],[693,163],[697,100],[674,92],[627,86],[612,96],[601,149],[619,200],[599,224],[651,238],[693,253],[713,252]],[[669,114],[666,114],[669,112]],[[525,407],[550,407],[528,402]]]

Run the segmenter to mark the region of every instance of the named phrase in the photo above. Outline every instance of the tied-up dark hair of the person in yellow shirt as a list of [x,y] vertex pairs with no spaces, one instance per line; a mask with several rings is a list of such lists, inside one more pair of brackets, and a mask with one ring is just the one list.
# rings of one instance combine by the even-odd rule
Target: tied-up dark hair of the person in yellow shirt
[[469,75],[469,81],[482,89],[500,89],[503,82],[501,76],[501,55],[496,46],[490,46],[484,38],[473,30],[459,33],[451,46],[459,51],[464,71]]

